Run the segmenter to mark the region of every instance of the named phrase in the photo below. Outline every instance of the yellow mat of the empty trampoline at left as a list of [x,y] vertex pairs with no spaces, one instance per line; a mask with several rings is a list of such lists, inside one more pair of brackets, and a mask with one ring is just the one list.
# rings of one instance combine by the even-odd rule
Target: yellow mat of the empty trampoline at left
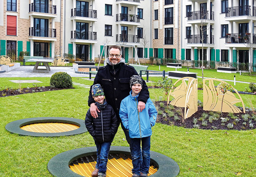
[[60,133],[65,131],[72,131],[80,128],[75,124],[68,123],[36,123],[20,127],[25,131],[32,131],[37,133]]

